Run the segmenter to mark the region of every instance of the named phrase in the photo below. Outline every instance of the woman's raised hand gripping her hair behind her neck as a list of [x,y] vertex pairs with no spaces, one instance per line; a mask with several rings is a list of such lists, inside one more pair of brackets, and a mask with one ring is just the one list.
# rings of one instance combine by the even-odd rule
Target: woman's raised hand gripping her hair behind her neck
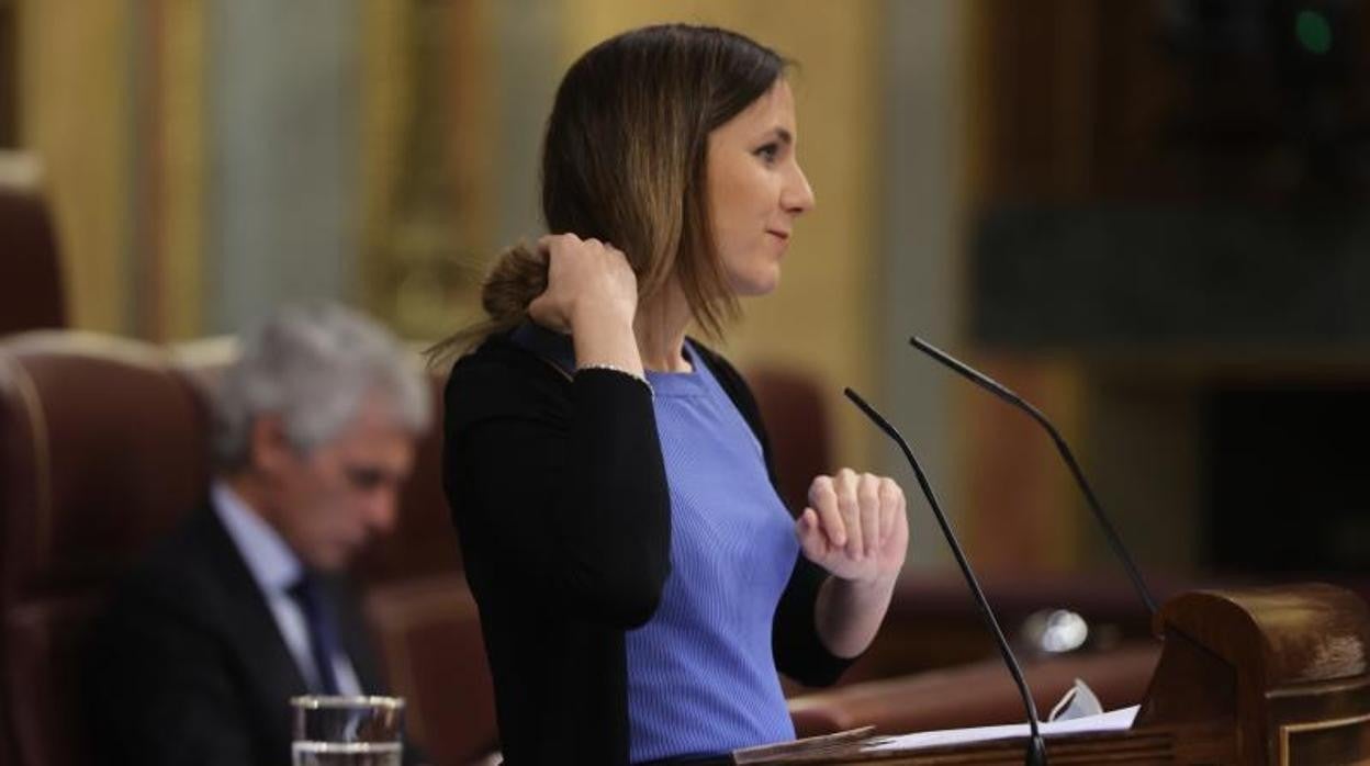
[[537,244],[548,263],[547,291],[527,306],[534,322],[571,334],[578,326],[632,326],[637,277],[621,251],[575,234],[548,234]]

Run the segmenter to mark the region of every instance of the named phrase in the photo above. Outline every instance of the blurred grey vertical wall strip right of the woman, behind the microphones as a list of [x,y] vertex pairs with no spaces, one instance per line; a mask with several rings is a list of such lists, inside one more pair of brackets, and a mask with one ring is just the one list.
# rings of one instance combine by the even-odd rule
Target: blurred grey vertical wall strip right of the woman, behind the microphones
[[[875,108],[884,129],[877,162],[882,264],[873,289],[882,307],[873,328],[873,356],[885,414],[899,423],[948,517],[966,534],[975,515],[963,504],[971,495],[959,469],[967,438],[952,410],[959,381],[915,354],[908,337],[947,348],[960,341],[966,160],[974,145],[966,136],[973,125],[969,14],[960,0],[889,0],[885,14]],[[941,530],[903,455],[880,440],[873,463],[899,477],[910,493],[911,565],[949,563]]]

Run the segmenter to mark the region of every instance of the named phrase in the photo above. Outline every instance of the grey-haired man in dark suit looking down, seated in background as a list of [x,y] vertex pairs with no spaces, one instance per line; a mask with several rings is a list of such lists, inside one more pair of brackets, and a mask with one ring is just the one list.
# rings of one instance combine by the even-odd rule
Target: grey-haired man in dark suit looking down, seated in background
[[292,696],[382,692],[340,576],[393,526],[429,426],[415,360],[352,311],[292,307],[215,393],[210,497],[93,630],[86,715],[108,763],[288,763]]

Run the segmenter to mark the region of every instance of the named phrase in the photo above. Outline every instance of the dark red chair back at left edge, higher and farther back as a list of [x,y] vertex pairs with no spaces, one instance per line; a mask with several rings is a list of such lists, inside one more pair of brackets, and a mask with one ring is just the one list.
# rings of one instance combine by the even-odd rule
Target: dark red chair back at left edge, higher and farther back
[[37,160],[0,153],[0,336],[66,325],[62,259]]

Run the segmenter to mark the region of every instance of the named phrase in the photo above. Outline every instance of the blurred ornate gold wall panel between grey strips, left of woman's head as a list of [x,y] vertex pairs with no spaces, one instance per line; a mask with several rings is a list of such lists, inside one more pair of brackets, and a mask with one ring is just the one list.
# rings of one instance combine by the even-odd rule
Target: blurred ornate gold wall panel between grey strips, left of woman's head
[[366,306],[437,338],[473,312],[495,247],[499,27],[488,0],[362,4]]

